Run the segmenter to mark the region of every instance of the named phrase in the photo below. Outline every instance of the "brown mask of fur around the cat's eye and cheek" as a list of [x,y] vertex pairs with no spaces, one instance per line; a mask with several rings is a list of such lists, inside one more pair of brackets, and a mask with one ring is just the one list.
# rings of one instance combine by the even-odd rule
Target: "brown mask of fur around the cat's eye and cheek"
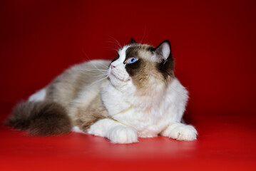
[[131,57],[138,58],[135,63],[126,64],[126,71],[138,90],[150,90],[153,82],[167,84],[173,76],[172,59],[168,59],[166,63],[158,63],[157,58],[153,57],[157,54],[150,51],[153,48],[145,44],[135,44],[126,50],[126,60]]

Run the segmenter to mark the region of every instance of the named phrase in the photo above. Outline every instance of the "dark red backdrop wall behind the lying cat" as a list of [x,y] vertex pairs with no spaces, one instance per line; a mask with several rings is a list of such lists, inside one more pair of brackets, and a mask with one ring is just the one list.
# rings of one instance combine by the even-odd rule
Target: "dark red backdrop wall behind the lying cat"
[[[250,0],[0,1],[0,103],[5,111],[1,118],[14,103],[46,86],[65,68],[88,59],[112,59],[116,56],[115,39],[124,45],[133,37],[154,46],[169,39],[175,75],[190,91],[185,115],[200,131],[198,143],[204,135],[211,135],[202,142],[205,148],[200,148],[199,156],[212,154],[208,143],[213,145],[220,134],[224,140],[216,144],[224,146],[216,145],[215,150],[228,148],[235,152],[229,159],[249,156],[249,161],[255,161],[250,153],[255,152],[250,145],[256,140],[255,6]],[[6,140],[12,132],[2,128],[2,140]],[[8,143],[2,144],[6,153],[11,149]],[[223,156],[221,152],[217,156]],[[211,161],[205,160],[203,163]],[[231,161],[228,168],[233,162],[237,163]]]

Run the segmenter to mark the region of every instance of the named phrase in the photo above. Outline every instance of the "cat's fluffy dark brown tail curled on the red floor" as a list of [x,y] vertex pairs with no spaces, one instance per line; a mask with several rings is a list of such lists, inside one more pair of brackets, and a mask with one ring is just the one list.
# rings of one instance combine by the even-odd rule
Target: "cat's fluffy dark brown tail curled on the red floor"
[[19,103],[6,125],[36,136],[61,135],[72,128],[66,109],[50,101]]

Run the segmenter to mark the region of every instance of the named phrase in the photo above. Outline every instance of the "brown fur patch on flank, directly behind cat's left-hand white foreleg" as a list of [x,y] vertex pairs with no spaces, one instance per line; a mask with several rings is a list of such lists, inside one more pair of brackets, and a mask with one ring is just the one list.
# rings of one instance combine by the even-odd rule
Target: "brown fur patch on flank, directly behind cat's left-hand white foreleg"
[[78,120],[76,120],[75,125],[86,132],[88,128],[96,123],[98,120],[108,118],[108,111],[106,110],[105,106],[101,101],[100,95],[98,95],[92,102],[89,107],[82,111],[79,116]]

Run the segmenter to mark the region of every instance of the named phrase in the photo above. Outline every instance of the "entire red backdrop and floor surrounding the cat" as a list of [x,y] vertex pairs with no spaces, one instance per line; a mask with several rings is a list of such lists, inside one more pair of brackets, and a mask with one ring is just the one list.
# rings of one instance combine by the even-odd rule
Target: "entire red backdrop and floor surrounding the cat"
[[1,120],[64,68],[111,59],[116,38],[169,39],[195,142],[113,145],[0,128],[0,170],[256,170],[255,1],[0,1]]

